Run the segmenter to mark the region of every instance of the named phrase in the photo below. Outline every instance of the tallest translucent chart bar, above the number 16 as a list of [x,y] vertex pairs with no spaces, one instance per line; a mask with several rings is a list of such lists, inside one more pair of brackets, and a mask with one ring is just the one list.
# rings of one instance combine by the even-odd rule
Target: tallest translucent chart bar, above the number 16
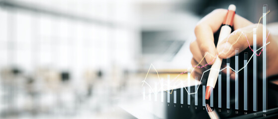
[[263,7],[263,112],[267,112],[267,4]]

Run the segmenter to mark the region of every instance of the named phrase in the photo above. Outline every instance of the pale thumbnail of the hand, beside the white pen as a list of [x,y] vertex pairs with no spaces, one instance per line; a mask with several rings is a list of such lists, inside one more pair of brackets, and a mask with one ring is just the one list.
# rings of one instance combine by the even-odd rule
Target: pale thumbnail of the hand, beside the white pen
[[220,46],[217,46],[217,52],[218,52],[218,55],[224,55],[224,56],[230,56],[233,52],[234,52],[234,47],[226,42],[224,44],[221,44]]

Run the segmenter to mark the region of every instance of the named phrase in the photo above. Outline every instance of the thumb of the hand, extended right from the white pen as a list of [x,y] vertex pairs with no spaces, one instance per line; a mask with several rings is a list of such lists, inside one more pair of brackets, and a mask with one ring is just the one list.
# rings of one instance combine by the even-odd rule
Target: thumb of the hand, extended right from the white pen
[[249,46],[253,46],[253,28],[257,28],[257,45],[259,47],[263,46],[262,25],[252,24],[234,31],[219,43],[216,48],[219,57],[227,59],[227,57],[233,57],[235,55],[236,49],[239,49],[239,52],[244,51],[246,48],[251,49]]

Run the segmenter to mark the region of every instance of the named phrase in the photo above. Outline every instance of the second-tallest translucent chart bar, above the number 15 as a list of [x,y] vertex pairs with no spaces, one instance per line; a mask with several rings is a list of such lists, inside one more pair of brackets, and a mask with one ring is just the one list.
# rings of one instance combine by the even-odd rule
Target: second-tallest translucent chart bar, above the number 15
[[257,111],[257,28],[253,29],[253,111]]

